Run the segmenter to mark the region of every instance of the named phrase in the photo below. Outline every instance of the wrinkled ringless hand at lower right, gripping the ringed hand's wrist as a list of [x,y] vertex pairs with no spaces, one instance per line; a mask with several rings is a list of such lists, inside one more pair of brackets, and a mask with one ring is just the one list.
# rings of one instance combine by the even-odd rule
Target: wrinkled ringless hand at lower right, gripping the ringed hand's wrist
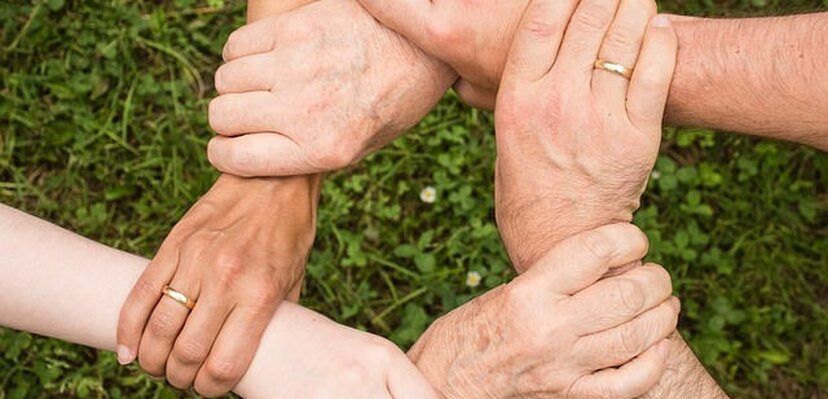
[[[629,224],[561,242],[508,285],[438,319],[409,356],[447,398],[633,398],[664,372],[679,303]],[[619,367],[615,369],[614,367]]]

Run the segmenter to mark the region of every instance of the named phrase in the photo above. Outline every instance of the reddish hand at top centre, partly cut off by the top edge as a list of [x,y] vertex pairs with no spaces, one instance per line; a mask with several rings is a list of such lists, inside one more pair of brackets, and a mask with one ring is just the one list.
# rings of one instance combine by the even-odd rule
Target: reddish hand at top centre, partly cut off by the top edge
[[[463,100],[494,108],[506,56],[529,0],[359,1],[384,25],[454,68],[461,77],[454,89]],[[550,6],[571,14],[575,3],[559,0]]]

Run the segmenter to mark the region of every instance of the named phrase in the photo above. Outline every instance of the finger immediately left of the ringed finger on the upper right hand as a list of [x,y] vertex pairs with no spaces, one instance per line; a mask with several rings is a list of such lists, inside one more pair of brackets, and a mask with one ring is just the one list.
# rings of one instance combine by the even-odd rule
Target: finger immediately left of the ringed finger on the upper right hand
[[589,84],[601,43],[615,16],[619,0],[581,0],[566,28],[558,61],[567,76]]

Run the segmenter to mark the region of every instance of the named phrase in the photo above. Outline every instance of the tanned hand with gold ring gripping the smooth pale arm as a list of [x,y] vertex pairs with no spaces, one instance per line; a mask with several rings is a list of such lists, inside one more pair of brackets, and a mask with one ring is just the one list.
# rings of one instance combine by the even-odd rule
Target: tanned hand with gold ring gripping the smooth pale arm
[[[298,298],[318,177],[223,175],[173,228],[121,310],[118,354],[202,395],[233,388],[279,303]],[[161,295],[181,291],[185,306]]]

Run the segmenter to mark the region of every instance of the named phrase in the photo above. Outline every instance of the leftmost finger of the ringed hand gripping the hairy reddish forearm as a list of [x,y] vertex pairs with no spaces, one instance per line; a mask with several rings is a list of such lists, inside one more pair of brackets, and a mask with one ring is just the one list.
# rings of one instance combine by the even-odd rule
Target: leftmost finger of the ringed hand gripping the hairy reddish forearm
[[549,72],[575,4],[574,0],[529,3],[515,32],[503,72],[504,83],[533,82]]

